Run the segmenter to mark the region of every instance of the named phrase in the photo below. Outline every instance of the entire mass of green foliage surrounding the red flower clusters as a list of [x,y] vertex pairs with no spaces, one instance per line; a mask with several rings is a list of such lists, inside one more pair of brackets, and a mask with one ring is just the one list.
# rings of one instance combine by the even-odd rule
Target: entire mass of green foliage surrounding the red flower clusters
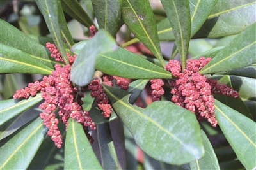
[[[37,11],[19,11],[17,23],[1,16],[0,169],[255,169],[255,2],[163,0],[157,10],[157,1],[147,0],[70,2],[29,2]],[[29,25],[35,15],[42,18],[36,27]],[[77,32],[70,32],[75,22]],[[43,25],[49,36],[42,36]],[[93,38],[74,38],[76,33],[86,35],[91,25],[99,29]],[[239,92],[237,99],[214,95],[216,129],[170,102],[168,83],[175,77],[164,69],[168,60],[162,41],[173,45],[168,57],[179,53],[182,69],[190,57],[211,57],[200,74]],[[65,64],[52,59],[47,42],[57,46]],[[134,50],[137,42],[148,48],[140,49],[142,55]],[[63,146],[58,149],[39,117],[41,93],[29,99],[8,97],[33,81],[28,74],[49,75],[54,64],[68,64],[67,52],[77,55],[70,74],[74,86],[87,90],[101,74],[132,80],[127,90],[118,89],[116,81],[114,87],[103,85],[113,106],[109,118],[102,116],[90,91],[85,92],[83,110],[97,125],[90,131],[94,143],[70,118],[67,128],[59,125]],[[162,101],[148,102],[152,79],[164,80]]]

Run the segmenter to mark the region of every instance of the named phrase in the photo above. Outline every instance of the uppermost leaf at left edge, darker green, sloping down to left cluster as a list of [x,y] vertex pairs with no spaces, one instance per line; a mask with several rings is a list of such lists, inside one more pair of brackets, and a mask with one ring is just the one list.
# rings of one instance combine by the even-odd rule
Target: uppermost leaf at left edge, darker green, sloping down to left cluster
[[[0,20],[0,29],[0,43],[12,46],[13,48],[17,48],[17,50],[21,50],[22,52],[35,56],[37,57],[38,62],[54,69],[54,63],[56,62],[52,57],[50,57],[49,50],[45,47],[45,43],[44,45],[35,43],[35,41],[33,41],[33,39],[28,35],[19,31],[19,29],[13,27],[13,25],[5,22],[4,20]],[[1,46],[1,51],[2,48],[4,47]],[[1,69],[2,68],[3,67],[1,67]]]

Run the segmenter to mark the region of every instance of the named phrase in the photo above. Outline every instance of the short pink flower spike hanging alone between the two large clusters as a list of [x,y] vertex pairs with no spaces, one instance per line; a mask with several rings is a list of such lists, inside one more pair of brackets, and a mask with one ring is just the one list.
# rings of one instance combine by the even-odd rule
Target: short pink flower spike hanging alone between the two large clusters
[[162,95],[164,94],[164,81],[162,79],[153,79],[150,80],[151,83],[151,97],[152,97],[152,102],[154,101],[161,101]]

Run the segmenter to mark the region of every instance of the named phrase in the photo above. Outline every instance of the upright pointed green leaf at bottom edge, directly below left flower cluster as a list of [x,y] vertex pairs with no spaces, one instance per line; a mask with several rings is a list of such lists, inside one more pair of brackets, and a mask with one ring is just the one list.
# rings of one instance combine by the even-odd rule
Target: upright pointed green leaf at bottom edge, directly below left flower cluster
[[81,124],[68,120],[64,169],[102,169]]

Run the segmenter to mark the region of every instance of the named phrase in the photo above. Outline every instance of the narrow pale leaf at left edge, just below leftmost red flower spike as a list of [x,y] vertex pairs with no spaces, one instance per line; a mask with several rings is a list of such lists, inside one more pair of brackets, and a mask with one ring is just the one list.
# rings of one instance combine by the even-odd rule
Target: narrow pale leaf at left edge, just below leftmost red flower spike
[[0,125],[3,125],[4,122],[10,118],[15,117],[19,113],[31,108],[36,103],[42,101],[41,94],[36,94],[35,97],[30,97],[29,99],[17,101],[14,99],[8,99],[0,101],[1,111],[0,111]]

